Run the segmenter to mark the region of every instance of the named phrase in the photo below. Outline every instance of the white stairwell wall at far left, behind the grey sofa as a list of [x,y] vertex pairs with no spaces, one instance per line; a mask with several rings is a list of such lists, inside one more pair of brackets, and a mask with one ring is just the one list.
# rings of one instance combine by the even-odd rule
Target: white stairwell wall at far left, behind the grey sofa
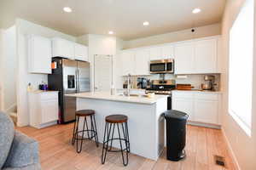
[[2,62],[3,111],[10,112],[15,110],[16,105],[17,54],[15,26],[3,31]]

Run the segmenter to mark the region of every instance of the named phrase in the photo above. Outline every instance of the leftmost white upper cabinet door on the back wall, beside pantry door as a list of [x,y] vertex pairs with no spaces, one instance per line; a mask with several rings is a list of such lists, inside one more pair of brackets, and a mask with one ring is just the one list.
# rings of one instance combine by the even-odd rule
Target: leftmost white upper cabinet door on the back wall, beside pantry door
[[[122,75],[135,75],[135,56],[134,51],[123,51],[122,53]],[[147,64],[145,64],[147,65]]]

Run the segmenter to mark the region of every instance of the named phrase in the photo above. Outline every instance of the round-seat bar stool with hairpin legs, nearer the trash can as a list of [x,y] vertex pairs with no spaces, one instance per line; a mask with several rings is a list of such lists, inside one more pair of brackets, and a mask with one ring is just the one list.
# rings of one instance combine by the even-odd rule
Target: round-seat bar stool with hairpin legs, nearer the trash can
[[[127,125],[128,117],[125,115],[110,115],[105,118],[105,131],[104,131],[104,139],[103,139],[103,147],[102,147],[102,164],[106,161],[107,152],[121,152],[123,164],[126,166],[128,164],[128,153],[130,152],[130,141],[129,141],[129,133],[128,133],[128,125]],[[112,128],[113,125],[113,128]],[[114,127],[117,126],[118,129],[118,138],[113,138]],[[123,138],[120,135],[119,126],[122,127]],[[112,130],[112,135],[111,135]],[[110,139],[111,136],[111,139]],[[113,140],[119,140],[120,150],[112,150]],[[123,148],[122,141],[125,142],[125,148]],[[110,147],[108,143],[110,142]],[[126,152],[124,156],[124,151]]]

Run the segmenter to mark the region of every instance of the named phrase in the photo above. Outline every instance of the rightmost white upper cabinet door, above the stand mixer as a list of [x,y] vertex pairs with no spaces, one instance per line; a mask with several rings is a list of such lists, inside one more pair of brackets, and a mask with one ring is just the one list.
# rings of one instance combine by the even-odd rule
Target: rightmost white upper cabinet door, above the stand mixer
[[217,72],[217,39],[195,42],[195,73]]

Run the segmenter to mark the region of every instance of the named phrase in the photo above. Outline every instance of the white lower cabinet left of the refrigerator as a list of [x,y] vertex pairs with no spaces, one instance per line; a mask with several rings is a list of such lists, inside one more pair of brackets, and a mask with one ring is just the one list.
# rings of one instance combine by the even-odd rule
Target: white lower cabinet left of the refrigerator
[[30,126],[42,128],[57,123],[59,114],[58,92],[29,93]]

